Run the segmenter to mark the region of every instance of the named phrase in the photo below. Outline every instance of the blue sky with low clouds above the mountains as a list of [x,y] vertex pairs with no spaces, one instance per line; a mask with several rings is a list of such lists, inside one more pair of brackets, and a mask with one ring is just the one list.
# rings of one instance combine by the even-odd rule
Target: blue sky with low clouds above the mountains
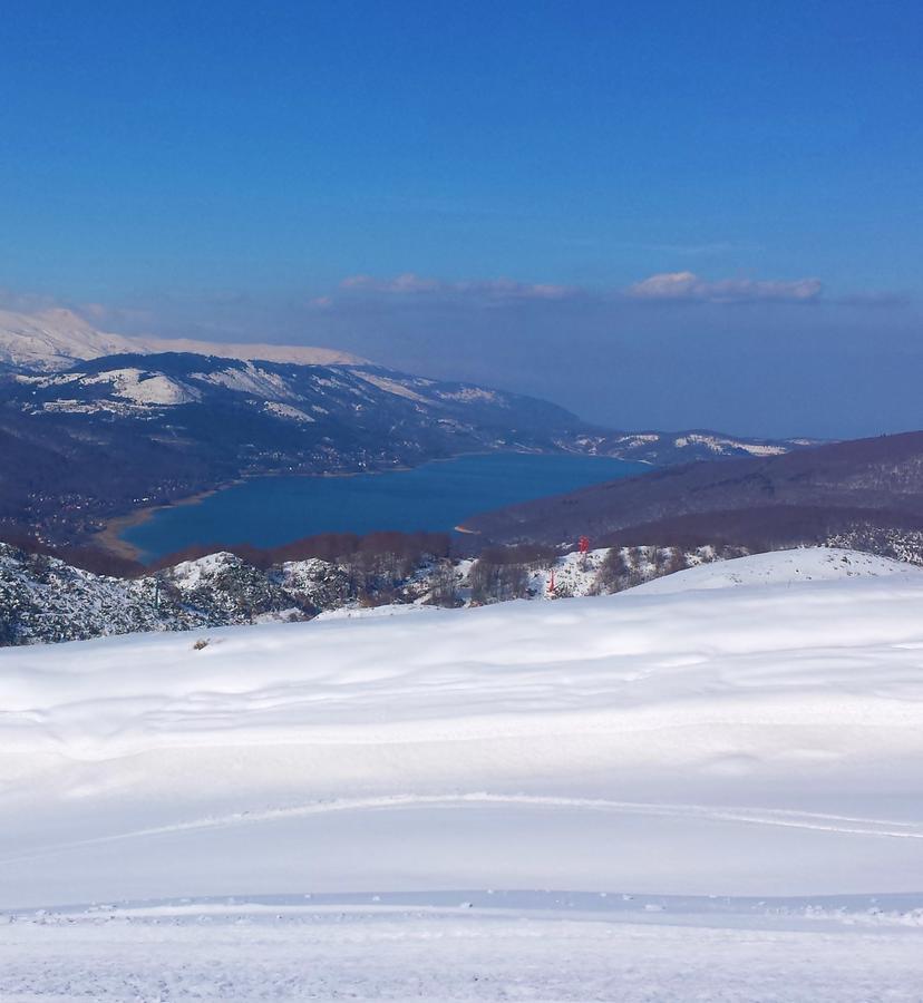
[[920,427],[917,3],[13,2],[0,290],[622,427]]

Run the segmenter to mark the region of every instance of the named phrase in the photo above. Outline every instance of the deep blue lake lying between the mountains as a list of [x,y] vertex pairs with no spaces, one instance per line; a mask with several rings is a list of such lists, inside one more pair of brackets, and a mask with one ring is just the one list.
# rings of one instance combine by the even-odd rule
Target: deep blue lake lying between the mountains
[[155,512],[122,539],[154,559],[192,544],[278,546],[318,533],[449,530],[492,508],[651,468],[608,457],[503,452],[352,477],[258,477]]

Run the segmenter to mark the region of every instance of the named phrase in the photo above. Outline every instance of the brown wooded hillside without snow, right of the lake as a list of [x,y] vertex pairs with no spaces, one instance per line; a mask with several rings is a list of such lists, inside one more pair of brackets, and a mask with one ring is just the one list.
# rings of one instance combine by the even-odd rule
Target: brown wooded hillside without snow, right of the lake
[[474,515],[490,543],[739,546],[830,543],[885,556],[920,553],[923,431],[652,471]]

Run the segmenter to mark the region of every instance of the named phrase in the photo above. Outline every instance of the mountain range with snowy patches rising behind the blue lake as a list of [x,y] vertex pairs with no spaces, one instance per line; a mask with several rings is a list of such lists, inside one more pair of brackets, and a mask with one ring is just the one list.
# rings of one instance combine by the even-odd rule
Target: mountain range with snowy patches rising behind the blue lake
[[69,318],[7,313],[0,323],[0,538],[33,544],[86,546],[114,518],[241,478],[387,471],[472,452],[664,466],[812,445],[600,429],[547,401],[329,350],[183,342],[225,354],[169,352]]

